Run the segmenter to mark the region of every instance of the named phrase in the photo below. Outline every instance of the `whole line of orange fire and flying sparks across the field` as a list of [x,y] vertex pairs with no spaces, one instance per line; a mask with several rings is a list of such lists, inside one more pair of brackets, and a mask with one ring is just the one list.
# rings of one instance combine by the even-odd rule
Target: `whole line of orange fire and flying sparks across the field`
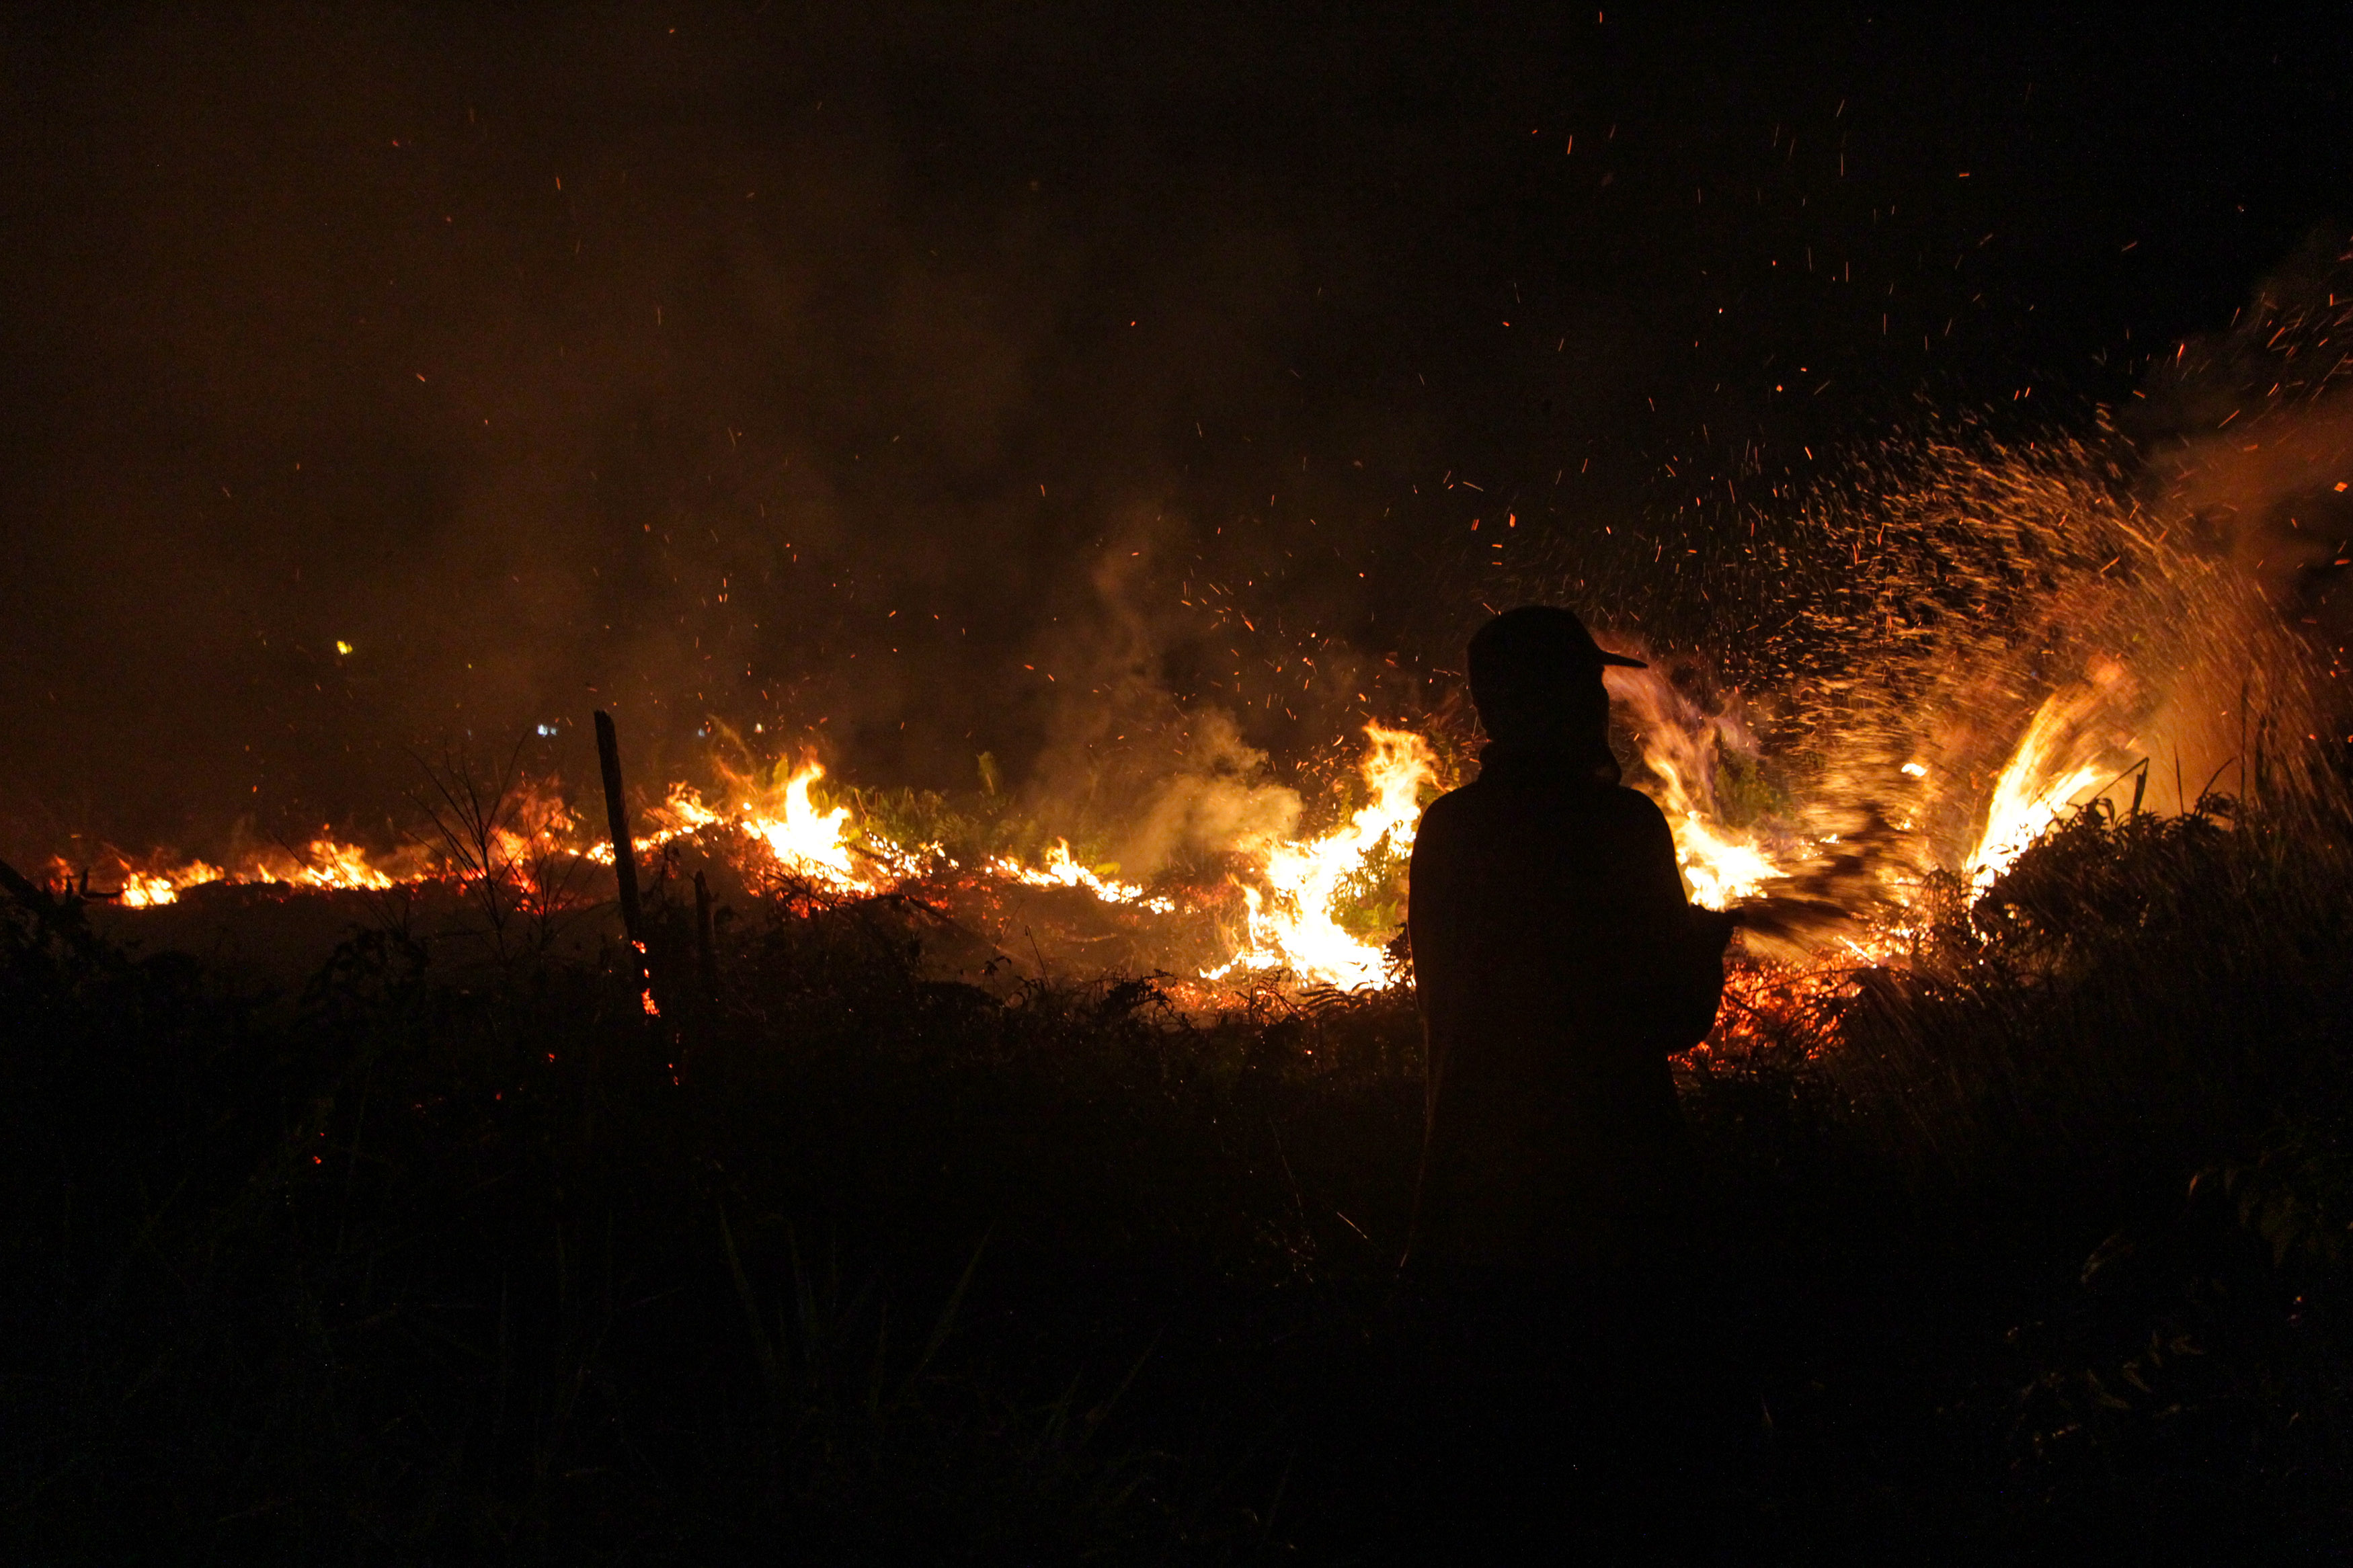
[[[1640,646],[1654,668],[1609,672],[1628,780],[1666,811],[1694,903],[1746,929],[1748,999],[1718,1048],[1791,999],[1904,966],[1955,896],[1984,898],[2071,816],[2179,816],[2219,788],[2311,811],[2337,788],[2325,656],[2193,508],[2106,454],[1969,433],[1894,447],[1807,501],[1814,559],[1748,550],[1741,609],[1805,628],[1737,646],[1751,670],[1779,661],[1777,684],[1741,691],[1704,651],[1657,646]],[[988,759],[988,790],[944,797],[840,788],[814,757],[736,755],[713,759],[713,785],[671,783],[638,813],[640,860],[791,907],[904,900],[953,933],[934,938],[951,964],[1155,973],[1214,1011],[1409,973],[1414,825],[1468,748],[1445,717],[1365,724],[1353,766],[1304,780],[1306,797],[1259,759],[1233,785],[1242,806],[1146,877],[1108,858],[1115,835],[1014,811]],[[558,780],[513,762],[494,785],[456,766],[428,778],[431,830],[393,853],[320,832],[228,865],[59,858],[52,884],[125,910],[224,886],[487,886],[541,919],[595,903],[614,846]]]

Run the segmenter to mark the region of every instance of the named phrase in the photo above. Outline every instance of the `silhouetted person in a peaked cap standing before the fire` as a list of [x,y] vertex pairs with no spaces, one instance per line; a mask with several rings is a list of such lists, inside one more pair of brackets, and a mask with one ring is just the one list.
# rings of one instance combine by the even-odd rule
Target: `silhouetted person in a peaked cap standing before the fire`
[[1675,1248],[1666,1058],[1715,1020],[1732,924],[1689,905],[1666,818],[1619,785],[1605,665],[1642,668],[1565,609],[1480,628],[1480,776],[1414,839],[1428,1103],[1409,1269],[1438,1291],[1591,1298]]

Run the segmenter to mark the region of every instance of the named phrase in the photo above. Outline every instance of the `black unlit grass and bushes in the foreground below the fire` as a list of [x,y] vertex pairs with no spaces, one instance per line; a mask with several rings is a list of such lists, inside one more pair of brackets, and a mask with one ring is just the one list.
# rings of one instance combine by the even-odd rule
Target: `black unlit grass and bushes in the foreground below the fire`
[[0,1556],[2337,1559],[2341,844],[2085,816],[1744,1011],[1607,1406],[1489,1399],[1569,1326],[1421,1354],[1402,994],[1188,1023],[776,907],[673,1034],[614,964],[386,929],[233,994],[16,896]]

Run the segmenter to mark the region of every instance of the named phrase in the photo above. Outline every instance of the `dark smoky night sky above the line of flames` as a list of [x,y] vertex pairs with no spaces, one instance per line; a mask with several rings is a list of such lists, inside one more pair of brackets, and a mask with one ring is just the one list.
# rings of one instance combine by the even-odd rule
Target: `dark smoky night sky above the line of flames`
[[19,9],[0,837],[365,827],[598,703],[1068,785],[1282,661],[1299,750],[1499,515],[2085,425],[2353,221],[2341,7],[1944,12]]

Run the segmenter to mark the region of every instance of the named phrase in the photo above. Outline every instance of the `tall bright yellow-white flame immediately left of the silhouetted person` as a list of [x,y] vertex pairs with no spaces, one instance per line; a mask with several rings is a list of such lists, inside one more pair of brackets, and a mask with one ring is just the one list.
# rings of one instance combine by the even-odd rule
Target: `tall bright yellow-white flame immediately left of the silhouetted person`
[[[1247,938],[1233,961],[1205,973],[1224,980],[1247,971],[1289,971],[1311,985],[1365,990],[1381,985],[1391,931],[1341,924],[1348,884],[1374,891],[1384,870],[1402,867],[1421,820],[1421,788],[1435,776],[1431,743],[1405,729],[1365,726],[1362,778],[1372,799],[1344,827],[1306,844],[1275,844],[1266,886],[1242,884]],[[1393,929],[1393,926],[1391,926]]]

